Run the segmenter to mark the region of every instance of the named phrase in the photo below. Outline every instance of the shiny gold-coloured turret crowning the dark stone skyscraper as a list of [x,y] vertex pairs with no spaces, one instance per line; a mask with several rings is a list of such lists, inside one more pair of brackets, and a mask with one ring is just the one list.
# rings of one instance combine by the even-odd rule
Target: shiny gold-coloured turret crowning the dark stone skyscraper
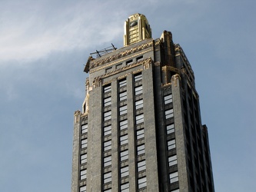
[[151,28],[145,15],[136,13],[125,21],[124,46],[151,38]]

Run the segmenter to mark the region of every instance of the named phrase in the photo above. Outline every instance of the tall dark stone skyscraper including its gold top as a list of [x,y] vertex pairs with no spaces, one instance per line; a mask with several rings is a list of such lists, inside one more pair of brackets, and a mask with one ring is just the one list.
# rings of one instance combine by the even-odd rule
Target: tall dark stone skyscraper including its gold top
[[154,40],[145,15],[131,15],[124,47],[84,71],[71,192],[214,191],[194,72],[170,31]]

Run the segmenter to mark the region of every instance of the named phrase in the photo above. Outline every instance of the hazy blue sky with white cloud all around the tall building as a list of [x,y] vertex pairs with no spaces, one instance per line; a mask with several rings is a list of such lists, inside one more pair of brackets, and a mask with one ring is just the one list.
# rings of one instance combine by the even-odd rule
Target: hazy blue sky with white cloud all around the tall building
[[0,1],[0,190],[69,192],[73,114],[96,49],[123,45],[126,18],[171,31],[194,70],[216,191],[256,188],[256,2]]

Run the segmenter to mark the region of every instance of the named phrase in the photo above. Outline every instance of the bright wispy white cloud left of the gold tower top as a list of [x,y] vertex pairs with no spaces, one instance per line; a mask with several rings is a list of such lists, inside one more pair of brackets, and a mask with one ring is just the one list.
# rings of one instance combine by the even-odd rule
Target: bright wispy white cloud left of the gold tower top
[[28,12],[2,13],[0,61],[33,61],[52,51],[86,48],[96,40],[110,41],[123,30],[114,19],[108,19],[106,25],[104,15],[98,14],[105,11],[105,5],[98,6],[98,12],[90,9],[90,3],[47,12],[40,6],[44,5],[34,5]]

